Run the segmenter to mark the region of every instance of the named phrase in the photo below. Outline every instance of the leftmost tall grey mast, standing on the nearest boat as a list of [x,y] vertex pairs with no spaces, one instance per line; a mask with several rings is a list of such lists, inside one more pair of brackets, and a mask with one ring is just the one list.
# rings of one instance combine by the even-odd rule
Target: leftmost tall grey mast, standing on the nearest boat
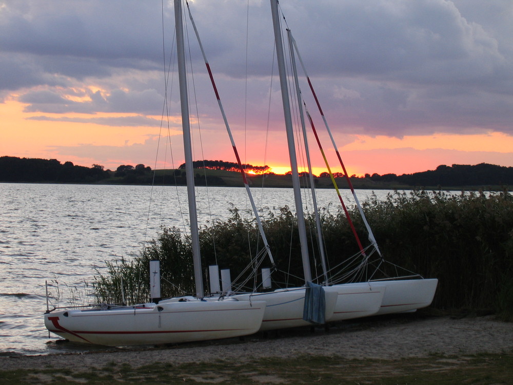
[[176,26],[176,56],[180,82],[180,104],[182,106],[182,130],[184,135],[185,175],[187,179],[187,198],[189,201],[189,219],[192,240],[192,260],[194,263],[194,281],[196,297],[203,298],[203,278],[201,272],[200,236],[198,216],[194,194],[194,171],[192,168],[192,146],[189,122],[189,104],[187,95],[187,74],[185,68],[185,44],[182,21],[182,0],[174,0],[174,20]]

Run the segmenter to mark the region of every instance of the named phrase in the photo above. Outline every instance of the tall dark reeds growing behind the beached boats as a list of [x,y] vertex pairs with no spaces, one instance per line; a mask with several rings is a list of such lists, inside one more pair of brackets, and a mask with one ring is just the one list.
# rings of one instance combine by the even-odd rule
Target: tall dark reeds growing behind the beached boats
[[[386,260],[425,278],[439,279],[433,300],[437,309],[486,309],[513,319],[513,197],[508,191],[394,192],[385,201],[371,198],[363,208]],[[321,223],[328,265],[334,267],[359,249],[344,213],[330,209],[321,211]],[[356,208],[350,209],[350,215],[362,243],[368,243]],[[313,217],[306,222],[313,275],[321,276]],[[263,225],[277,266],[275,283],[303,284],[297,221],[291,211],[284,207],[278,215],[269,213]],[[234,208],[229,220],[200,230],[204,268],[210,264],[230,268],[233,278],[262,249],[259,239],[254,222],[243,219]],[[139,255],[107,262],[108,272],[95,277],[96,297],[121,302],[123,276],[126,302],[147,300],[152,259],[161,261],[163,297],[193,293],[191,254],[188,237],[176,228],[163,229]],[[267,260],[264,265],[270,267]],[[255,278],[256,286],[259,279]]]

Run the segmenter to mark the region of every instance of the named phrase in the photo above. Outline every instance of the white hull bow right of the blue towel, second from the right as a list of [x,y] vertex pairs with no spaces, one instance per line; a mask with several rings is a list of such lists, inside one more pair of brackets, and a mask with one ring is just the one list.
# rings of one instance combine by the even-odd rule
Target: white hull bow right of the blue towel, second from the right
[[380,311],[385,286],[380,283],[344,283],[325,286],[326,292],[337,294],[337,302],[329,322],[367,317]]

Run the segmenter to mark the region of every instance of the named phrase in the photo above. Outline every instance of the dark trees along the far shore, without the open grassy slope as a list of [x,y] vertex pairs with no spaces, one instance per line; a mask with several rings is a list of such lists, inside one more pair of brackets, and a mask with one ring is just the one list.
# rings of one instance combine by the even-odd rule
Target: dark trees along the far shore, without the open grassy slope
[[[239,166],[233,162],[219,160],[194,161],[194,168],[208,168],[226,171],[239,171]],[[112,179],[109,183],[122,184],[177,184],[185,185],[185,163],[174,170],[171,177],[162,176],[154,178],[151,167],[144,164],[121,165],[115,171],[104,170],[104,167],[93,164],[92,167],[75,166],[71,162],[61,164],[56,159],[34,159],[17,157],[0,157],[0,182],[50,182],[50,183],[94,183],[102,180]],[[272,174],[269,166],[253,166],[244,164],[246,171],[253,171],[255,174]],[[287,172],[290,174],[290,171]],[[334,177],[341,178],[341,172],[334,172]],[[307,172],[301,173],[307,176]],[[329,178],[327,172],[322,172],[320,178]],[[351,178],[356,178],[352,175]],[[195,175],[195,182],[198,185],[226,184],[221,177]],[[441,165],[435,170],[415,172],[413,174],[365,174],[367,179],[374,182],[392,183],[404,186],[511,186],[513,185],[513,167],[497,166],[493,164],[480,163],[477,165],[453,164],[452,166]]]

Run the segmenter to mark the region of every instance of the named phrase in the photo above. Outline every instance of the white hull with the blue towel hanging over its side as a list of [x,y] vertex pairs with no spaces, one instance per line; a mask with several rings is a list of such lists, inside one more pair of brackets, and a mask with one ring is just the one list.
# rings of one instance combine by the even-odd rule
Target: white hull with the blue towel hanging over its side
[[[324,289],[326,289],[324,287]],[[325,296],[325,319],[331,318],[337,294],[324,292]],[[265,301],[266,307],[260,331],[297,328],[299,326],[312,325],[311,322],[303,319],[305,305],[305,288],[280,289],[274,292],[258,294],[237,294],[233,298],[247,301]]]

